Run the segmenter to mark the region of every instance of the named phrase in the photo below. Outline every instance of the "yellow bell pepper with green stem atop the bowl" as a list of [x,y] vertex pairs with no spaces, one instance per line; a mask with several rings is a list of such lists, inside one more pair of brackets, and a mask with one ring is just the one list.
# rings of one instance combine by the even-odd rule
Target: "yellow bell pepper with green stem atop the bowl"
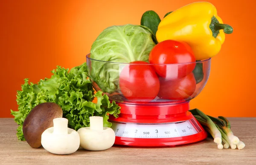
[[233,28],[223,24],[215,6],[208,2],[195,2],[167,15],[158,25],[157,41],[177,40],[188,43],[196,60],[215,56],[221,50],[225,34]]

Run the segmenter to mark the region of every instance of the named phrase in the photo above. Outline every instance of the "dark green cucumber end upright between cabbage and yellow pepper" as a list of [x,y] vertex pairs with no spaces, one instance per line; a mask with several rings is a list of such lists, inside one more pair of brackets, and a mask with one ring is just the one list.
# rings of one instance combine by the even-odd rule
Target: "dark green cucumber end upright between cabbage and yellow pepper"
[[140,25],[150,28],[153,32],[153,40],[155,43],[157,43],[156,32],[160,21],[159,15],[152,10],[145,11],[140,20]]

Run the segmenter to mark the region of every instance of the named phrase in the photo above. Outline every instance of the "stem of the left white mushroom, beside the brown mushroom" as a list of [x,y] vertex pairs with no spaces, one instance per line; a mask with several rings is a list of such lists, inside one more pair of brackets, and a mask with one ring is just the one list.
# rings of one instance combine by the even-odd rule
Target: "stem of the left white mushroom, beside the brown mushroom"
[[66,118],[53,119],[53,134],[67,134],[67,123]]

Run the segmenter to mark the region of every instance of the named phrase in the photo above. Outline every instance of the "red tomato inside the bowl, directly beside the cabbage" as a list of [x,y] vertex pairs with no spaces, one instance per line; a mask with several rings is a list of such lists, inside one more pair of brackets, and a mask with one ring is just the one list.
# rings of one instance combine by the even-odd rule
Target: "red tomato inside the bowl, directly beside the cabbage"
[[122,94],[132,102],[150,102],[157,97],[160,82],[154,68],[144,61],[126,65],[119,76]]

